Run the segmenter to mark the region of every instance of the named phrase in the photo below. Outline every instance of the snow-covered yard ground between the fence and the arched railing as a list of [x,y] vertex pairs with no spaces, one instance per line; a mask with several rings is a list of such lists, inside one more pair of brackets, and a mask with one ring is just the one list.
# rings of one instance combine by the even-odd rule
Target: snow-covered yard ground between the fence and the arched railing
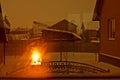
[[[26,56],[25,58],[23,59],[21,56],[6,56],[5,64],[0,65],[0,76],[6,76],[17,69],[20,69],[28,65],[29,64],[27,60],[28,57]],[[44,54],[43,61],[59,61],[59,60],[60,60],[60,52]],[[109,69],[110,73],[108,74],[108,76],[112,76],[112,75],[120,76],[119,67],[103,62],[98,62],[98,55],[96,53],[64,52],[62,53],[62,60],[87,63],[106,70]]]

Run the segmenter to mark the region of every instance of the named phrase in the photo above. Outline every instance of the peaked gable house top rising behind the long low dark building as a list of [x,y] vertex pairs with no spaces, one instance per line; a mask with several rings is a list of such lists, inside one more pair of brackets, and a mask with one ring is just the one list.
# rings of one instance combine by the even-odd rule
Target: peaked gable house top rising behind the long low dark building
[[77,25],[67,21],[66,19],[63,19],[59,21],[58,23],[52,25],[49,27],[50,29],[57,29],[57,30],[64,30],[64,31],[70,31],[76,33]]

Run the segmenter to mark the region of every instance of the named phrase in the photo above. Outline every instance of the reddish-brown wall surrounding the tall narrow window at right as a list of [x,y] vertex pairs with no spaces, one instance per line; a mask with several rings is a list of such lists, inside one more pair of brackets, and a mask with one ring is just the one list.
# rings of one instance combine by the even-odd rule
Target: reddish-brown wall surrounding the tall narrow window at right
[[[101,12],[101,53],[120,57],[120,0],[104,0]],[[108,39],[108,19],[115,18],[115,40]]]

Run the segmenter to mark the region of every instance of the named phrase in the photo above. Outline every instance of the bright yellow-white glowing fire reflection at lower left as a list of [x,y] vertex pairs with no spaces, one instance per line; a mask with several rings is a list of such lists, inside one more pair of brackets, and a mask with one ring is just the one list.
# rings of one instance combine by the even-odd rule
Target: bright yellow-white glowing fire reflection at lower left
[[32,51],[32,65],[41,65],[41,54],[38,50],[33,50]]

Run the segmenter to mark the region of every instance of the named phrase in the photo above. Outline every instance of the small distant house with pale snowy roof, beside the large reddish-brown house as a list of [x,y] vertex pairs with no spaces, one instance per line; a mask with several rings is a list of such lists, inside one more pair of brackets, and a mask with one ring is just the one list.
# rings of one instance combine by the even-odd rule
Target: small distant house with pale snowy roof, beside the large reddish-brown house
[[98,21],[82,23],[80,36],[87,42],[99,42]]

